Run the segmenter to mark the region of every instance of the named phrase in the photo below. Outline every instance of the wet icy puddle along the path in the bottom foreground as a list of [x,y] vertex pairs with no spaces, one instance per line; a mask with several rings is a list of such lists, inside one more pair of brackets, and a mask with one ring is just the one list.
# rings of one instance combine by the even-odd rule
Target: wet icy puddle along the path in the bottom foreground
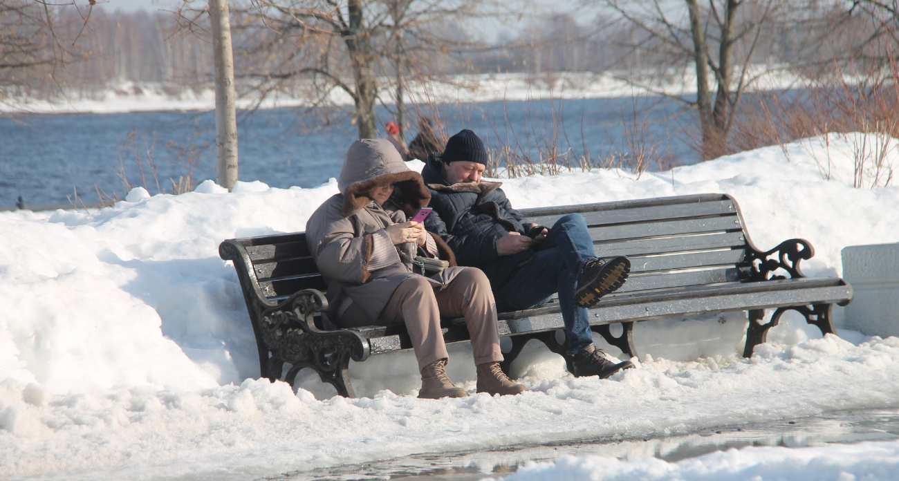
[[292,481],[427,478],[468,481],[505,477],[527,461],[552,461],[561,456],[604,456],[619,459],[655,457],[679,461],[717,450],[747,446],[802,448],[825,443],[899,439],[899,410],[835,412],[775,423],[728,426],[686,436],[639,440],[597,439],[566,445],[513,446],[502,450],[419,454],[375,463],[291,472]]

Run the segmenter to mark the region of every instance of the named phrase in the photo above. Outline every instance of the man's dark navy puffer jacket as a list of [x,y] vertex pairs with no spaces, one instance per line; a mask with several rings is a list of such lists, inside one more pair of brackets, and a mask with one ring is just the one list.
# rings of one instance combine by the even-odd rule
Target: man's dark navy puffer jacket
[[441,174],[440,154],[428,157],[422,170],[424,183],[431,190],[434,210],[424,219],[424,227],[443,239],[456,255],[458,265],[480,268],[498,289],[521,264],[534,257],[530,249],[499,256],[496,240],[506,232],[524,234],[531,226],[512,209],[502,183],[456,183],[449,185]]

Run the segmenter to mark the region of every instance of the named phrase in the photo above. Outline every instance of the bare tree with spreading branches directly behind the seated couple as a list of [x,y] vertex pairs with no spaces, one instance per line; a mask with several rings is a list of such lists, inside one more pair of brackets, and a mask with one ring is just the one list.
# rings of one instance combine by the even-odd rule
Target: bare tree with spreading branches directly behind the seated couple
[[[190,2],[189,2],[190,4]],[[232,5],[236,77],[263,95],[302,89],[310,105],[348,95],[360,138],[378,134],[386,86],[428,72],[432,61],[475,43],[445,25],[485,16],[493,0],[249,0]],[[198,18],[182,9],[185,19]],[[238,40],[238,37],[240,40]],[[243,43],[239,43],[242,41]],[[396,81],[386,80],[395,78]],[[394,86],[396,86],[394,85]]]

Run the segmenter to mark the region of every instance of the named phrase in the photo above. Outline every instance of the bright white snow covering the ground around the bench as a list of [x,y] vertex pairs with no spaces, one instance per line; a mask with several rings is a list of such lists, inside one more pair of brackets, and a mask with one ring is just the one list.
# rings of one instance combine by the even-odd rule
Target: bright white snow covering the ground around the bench
[[[831,135],[639,179],[597,170],[503,188],[519,208],[726,192],[756,245],[804,237],[816,251],[806,274],[836,276],[844,246],[899,242],[899,187],[853,187],[862,145],[883,146],[899,165],[895,139]],[[208,182],[180,196],[132,191],[102,210],[0,212],[0,477],[275,477],[412,453],[899,407],[899,338],[845,329],[822,338],[792,318],[743,359],[740,315],[641,323],[645,358],[605,380],[574,379],[561,358],[535,348],[513,366],[530,388],[521,396],[417,399],[411,352],[352,365],[365,378],[354,381],[359,399],[330,397],[315,379],[296,395],[256,380],[254,335],[218,243],[304,230],[336,191],[333,180],[314,189],[239,183],[230,193]],[[467,346],[454,346],[449,368],[473,393]],[[881,441],[679,463],[580,457],[512,478],[887,480],[897,478],[897,453]]]

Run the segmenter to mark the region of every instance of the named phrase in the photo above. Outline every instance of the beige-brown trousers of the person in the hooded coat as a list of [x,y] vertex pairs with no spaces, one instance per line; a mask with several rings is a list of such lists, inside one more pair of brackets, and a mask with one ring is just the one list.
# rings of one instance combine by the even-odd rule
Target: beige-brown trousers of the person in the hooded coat
[[443,287],[435,288],[423,277],[410,277],[396,288],[377,321],[371,321],[359,307],[351,304],[338,324],[355,327],[405,322],[418,370],[422,370],[433,361],[449,358],[443,343],[441,315],[465,317],[475,364],[503,361],[494,293],[484,272],[473,267],[464,268]]

